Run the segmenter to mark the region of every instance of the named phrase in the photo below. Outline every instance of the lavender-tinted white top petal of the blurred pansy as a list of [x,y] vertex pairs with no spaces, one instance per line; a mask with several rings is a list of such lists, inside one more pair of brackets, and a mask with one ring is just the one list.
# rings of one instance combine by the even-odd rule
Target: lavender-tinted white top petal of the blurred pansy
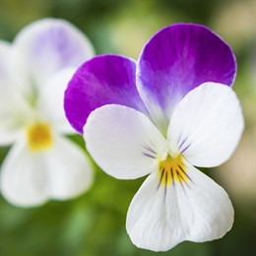
[[33,22],[17,35],[14,47],[22,54],[20,67],[33,83],[41,85],[56,72],[78,67],[94,55],[85,34],[73,25],[57,19]]

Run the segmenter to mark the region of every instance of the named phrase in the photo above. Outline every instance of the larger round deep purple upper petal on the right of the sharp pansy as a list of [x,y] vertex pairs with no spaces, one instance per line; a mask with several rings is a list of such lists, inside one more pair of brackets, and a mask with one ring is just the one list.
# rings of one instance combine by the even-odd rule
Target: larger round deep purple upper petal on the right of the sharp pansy
[[137,86],[153,119],[166,126],[176,103],[204,82],[231,86],[230,47],[204,26],[177,24],[155,34],[138,61]]

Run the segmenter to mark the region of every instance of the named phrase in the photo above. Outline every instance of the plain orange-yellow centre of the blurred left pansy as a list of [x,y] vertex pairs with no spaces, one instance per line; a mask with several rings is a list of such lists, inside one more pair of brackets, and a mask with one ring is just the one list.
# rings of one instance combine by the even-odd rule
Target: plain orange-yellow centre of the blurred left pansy
[[32,151],[48,149],[52,144],[50,126],[45,123],[36,123],[27,129],[28,144]]

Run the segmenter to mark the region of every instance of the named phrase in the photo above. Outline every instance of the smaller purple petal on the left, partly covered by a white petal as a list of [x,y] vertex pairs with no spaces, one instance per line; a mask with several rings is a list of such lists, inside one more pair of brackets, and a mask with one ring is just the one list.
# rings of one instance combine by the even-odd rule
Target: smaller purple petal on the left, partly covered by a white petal
[[65,93],[64,107],[71,125],[80,133],[96,107],[116,103],[147,112],[135,84],[136,63],[118,55],[101,55],[84,63]]

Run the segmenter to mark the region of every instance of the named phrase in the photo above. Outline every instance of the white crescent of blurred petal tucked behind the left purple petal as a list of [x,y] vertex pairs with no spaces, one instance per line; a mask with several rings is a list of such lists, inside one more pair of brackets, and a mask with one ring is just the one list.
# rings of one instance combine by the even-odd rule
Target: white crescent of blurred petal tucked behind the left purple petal
[[53,76],[41,89],[38,107],[52,123],[55,130],[61,133],[75,133],[64,111],[64,92],[74,73],[74,69],[65,69]]

